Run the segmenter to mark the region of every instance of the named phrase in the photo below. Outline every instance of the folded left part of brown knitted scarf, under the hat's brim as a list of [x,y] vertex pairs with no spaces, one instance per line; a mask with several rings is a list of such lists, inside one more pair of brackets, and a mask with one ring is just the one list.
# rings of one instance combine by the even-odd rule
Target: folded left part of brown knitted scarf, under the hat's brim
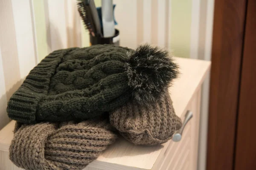
[[9,157],[26,170],[79,170],[95,160],[116,135],[107,119],[80,123],[19,125]]

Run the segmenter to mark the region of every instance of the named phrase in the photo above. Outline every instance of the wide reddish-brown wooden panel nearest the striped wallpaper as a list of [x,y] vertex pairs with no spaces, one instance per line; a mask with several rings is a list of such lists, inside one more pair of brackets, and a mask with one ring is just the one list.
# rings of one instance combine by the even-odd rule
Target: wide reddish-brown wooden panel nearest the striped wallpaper
[[215,0],[207,170],[233,170],[246,0]]

